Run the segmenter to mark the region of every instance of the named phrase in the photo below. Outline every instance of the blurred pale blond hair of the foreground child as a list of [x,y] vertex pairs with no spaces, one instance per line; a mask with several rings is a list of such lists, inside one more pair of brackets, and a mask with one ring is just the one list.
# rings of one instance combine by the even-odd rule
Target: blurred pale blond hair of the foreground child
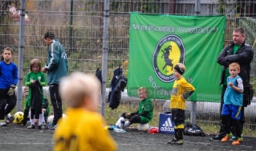
[[94,74],[73,72],[60,80],[59,93],[68,107],[79,108],[85,97],[91,101],[100,99],[100,81]]

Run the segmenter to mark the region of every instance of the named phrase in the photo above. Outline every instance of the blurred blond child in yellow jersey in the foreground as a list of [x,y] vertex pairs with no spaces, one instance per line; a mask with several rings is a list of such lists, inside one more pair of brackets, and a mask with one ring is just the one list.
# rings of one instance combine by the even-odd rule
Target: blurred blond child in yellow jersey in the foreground
[[91,74],[79,72],[63,77],[59,93],[67,104],[67,118],[58,121],[53,141],[54,150],[114,151],[116,143],[104,119],[97,113],[100,81]]

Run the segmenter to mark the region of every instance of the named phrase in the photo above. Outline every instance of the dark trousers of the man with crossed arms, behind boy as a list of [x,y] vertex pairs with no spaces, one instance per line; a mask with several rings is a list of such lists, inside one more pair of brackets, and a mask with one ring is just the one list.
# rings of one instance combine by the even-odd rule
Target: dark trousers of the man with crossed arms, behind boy
[[[220,118],[221,118],[221,111],[222,111],[222,106],[224,104],[224,94],[225,94],[225,91],[226,91],[226,87],[227,85],[223,85],[222,86],[222,89],[221,89],[221,108],[220,108]],[[247,93],[249,89],[244,87],[244,93]],[[244,93],[243,93],[243,100],[245,100],[245,96],[244,96]],[[234,130],[234,127],[231,125],[232,121],[231,121],[231,117],[228,119],[229,123],[230,123],[230,129],[231,129],[231,133],[234,134],[235,136],[235,130]],[[240,118],[240,121],[239,121],[240,125],[241,125],[241,130],[243,129],[243,125],[245,123],[245,107],[244,105],[242,105],[242,109],[241,109],[241,118]],[[223,126],[221,125],[221,129],[220,129],[220,134],[223,134],[225,135],[225,129],[223,128]]]

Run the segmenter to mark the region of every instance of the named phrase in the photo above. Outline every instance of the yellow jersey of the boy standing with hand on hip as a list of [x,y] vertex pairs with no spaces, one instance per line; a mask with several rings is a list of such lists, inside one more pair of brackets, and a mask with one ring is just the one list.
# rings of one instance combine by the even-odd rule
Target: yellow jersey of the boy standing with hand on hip
[[184,77],[174,81],[170,99],[170,108],[185,110],[185,98],[182,98],[181,95],[185,95],[188,91],[195,91],[195,88],[186,81]]

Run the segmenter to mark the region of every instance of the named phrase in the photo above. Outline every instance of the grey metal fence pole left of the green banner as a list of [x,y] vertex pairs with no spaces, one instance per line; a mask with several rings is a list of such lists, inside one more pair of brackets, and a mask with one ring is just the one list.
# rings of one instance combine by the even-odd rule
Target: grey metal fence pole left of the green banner
[[102,46],[102,90],[101,90],[101,114],[105,115],[105,93],[107,77],[107,59],[108,59],[108,24],[109,24],[109,0],[104,0],[104,30]]

